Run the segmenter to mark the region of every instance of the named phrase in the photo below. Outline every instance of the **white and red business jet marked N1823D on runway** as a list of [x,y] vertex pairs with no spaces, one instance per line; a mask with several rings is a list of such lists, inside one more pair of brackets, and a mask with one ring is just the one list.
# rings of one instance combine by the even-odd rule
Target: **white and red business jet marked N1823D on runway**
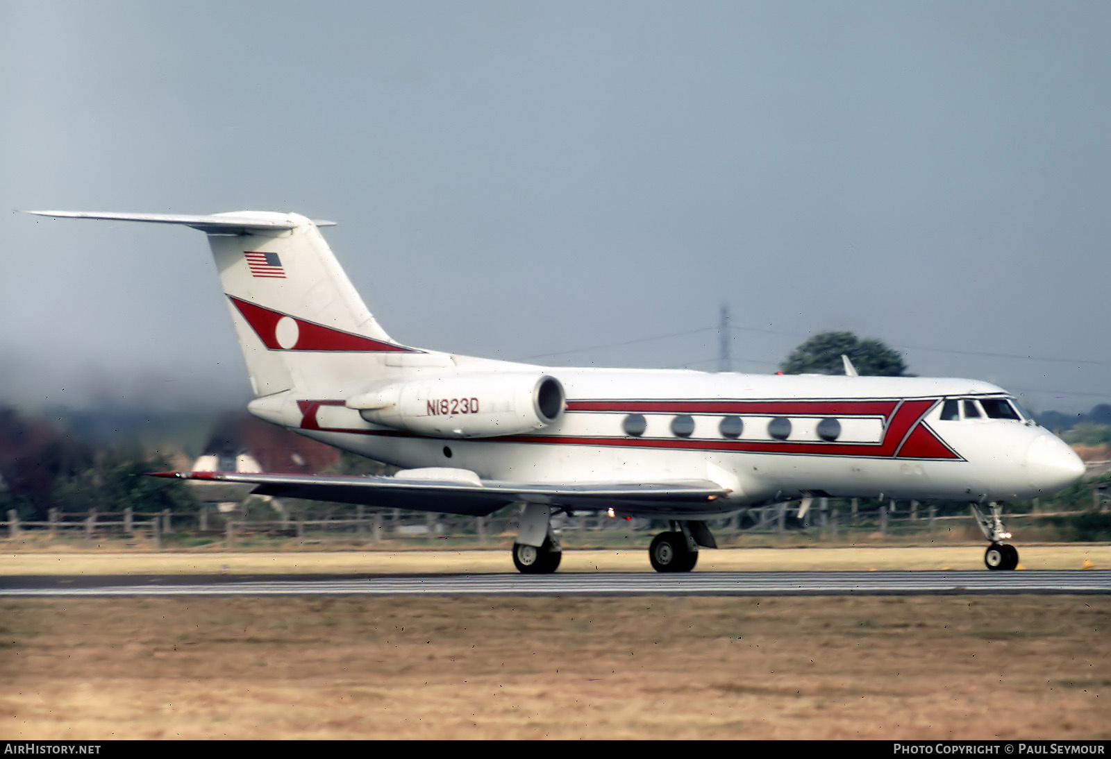
[[1019,556],[1000,502],[1044,496],[1084,466],[1005,391],[972,380],[554,368],[423,351],[371,315],[313,222],[296,213],[33,211],[183,224],[208,234],[256,398],[252,414],[403,467],[392,477],[162,473],[253,493],[487,515],[522,504],[513,561],[550,573],[560,512],[670,520],[649,559],[688,571],[707,526],[814,497],[963,500]]

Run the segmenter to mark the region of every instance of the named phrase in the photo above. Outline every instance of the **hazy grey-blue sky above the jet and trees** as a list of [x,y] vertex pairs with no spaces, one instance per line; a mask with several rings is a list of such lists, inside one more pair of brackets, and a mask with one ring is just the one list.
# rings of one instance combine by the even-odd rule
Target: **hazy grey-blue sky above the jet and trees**
[[11,211],[253,209],[339,222],[410,345],[713,370],[728,304],[739,371],[852,330],[1039,409],[1111,402],[1107,2],[0,0],[0,396],[240,401],[201,233]]

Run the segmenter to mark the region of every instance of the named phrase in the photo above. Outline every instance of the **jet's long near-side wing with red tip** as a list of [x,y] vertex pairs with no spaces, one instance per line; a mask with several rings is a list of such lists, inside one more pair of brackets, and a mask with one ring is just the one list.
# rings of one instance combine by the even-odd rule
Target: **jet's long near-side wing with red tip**
[[254,485],[257,495],[486,516],[514,503],[627,513],[717,513],[729,490],[709,479],[662,483],[516,483],[497,479],[159,472],[156,477]]

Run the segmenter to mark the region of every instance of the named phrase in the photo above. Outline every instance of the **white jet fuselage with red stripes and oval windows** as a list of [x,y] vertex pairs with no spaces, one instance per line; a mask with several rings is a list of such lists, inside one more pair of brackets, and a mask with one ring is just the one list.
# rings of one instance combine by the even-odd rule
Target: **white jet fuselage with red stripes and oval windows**
[[[731,493],[707,515],[805,495],[1027,499],[1083,473],[1064,443],[983,382],[541,371],[562,383],[565,409],[523,435],[427,437],[368,423],[342,398],[260,398],[252,409],[279,421],[280,407],[297,432],[404,468],[528,482],[710,479]],[[494,399],[480,396],[444,398],[447,416],[481,414]]]

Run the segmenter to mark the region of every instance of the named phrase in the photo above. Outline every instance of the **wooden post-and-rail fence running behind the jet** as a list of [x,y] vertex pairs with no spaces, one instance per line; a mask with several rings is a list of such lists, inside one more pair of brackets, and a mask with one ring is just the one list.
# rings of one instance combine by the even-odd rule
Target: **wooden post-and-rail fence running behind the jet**
[[[1095,506],[1102,510],[1102,504],[1097,503]],[[719,543],[728,543],[743,535],[780,539],[805,535],[808,538],[833,540],[862,533],[880,539],[929,537],[941,535],[953,527],[964,530],[973,524],[967,514],[939,516],[935,506],[917,502],[861,504],[858,499],[843,502],[819,498],[802,519],[798,514],[798,502],[774,504],[711,519],[709,526]],[[1033,514],[1011,514],[1005,518],[1010,522],[1032,516],[1045,515],[1039,514],[1035,506]],[[452,545],[486,546],[511,540],[517,534],[517,526],[516,509],[503,509],[488,517],[467,517],[353,507],[341,518],[271,520],[244,519],[234,513],[220,514],[208,509],[156,514],[136,514],[130,508],[99,513],[51,509],[47,522],[21,520],[16,512],[9,510],[7,522],[0,522],[0,539],[7,537],[9,540],[18,540],[34,536],[92,542],[114,537],[142,539],[154,547],[162,547],[168,540],[180,543],[183,537],[194,542],[222,542],[227,547],[282,538],[302,544],[354,542],[370,547],[386,543],[392,543],[393,547],[402,544],[436,546],[448,542]],[[553,517],[552,527],[562,539],[573,543],[604,543],[641,536],[647,539],[669,529],[665,519],[613,518],[604,513],[574,516],[560,514]]]

